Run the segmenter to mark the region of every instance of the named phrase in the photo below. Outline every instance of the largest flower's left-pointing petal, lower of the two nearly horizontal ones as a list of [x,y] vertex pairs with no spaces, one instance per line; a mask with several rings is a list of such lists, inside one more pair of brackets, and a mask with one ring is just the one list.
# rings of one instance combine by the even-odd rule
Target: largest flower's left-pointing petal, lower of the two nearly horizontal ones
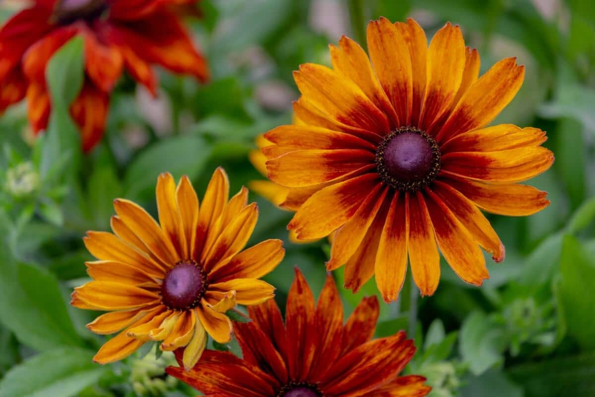
[[361,149],[300,150],[267,161],[268,177],[288,187],[330,182],[374,167],[375,155]]

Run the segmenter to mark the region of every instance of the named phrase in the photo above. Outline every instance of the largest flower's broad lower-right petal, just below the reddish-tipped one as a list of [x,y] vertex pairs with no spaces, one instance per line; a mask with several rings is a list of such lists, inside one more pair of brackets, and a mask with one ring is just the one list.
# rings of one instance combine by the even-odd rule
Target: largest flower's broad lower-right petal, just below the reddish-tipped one
[[490,274],[477,242],[436,194],[426,189],[424,196],[444,259],[462,280],[480,286]]

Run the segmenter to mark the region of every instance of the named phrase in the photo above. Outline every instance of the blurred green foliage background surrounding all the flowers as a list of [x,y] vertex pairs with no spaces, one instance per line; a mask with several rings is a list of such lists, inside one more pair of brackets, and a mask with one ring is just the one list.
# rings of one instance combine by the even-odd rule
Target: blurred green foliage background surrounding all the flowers
[[[0,3],[0,17],[14,8]],[[546,130],[556,162],[531,181],[552,205],[526,218],[490,215],[506,260],[488,265],[481,288],[443,267],[434,296],[418,299],[417,322],[404,302],[381,304],[377,336],[415,330],[408,372],[426,376],[432,397],[595,396],[595,2],[587,0],[203,0],[189,20],[212,82],[160,73],[158,99],[124,77],[112,96],[107,132],[89,155],[77,132],[50,128],[33,143],[26,107],[0,118],[0,396],[192,396],[163,376],[171,356],[138,352],[106,367],[93,364],[104,341],[84,324],[93,313],[68,295],[86,279],[86,230],[107,230],[112,199],[132,199],[156,214],[156,176],[187,174],[202,195],[223,165],[232,191],[263,179],[248,161],[256,135],[290,123],[297,98],[292,71],[330,64],[328,43],[342,34],[362,43],[380,15],[414,17],[430,38],[446,21],[461,24],[481,54],[482,73],[501,58],[525,64],[521,91],[494,123]],[[61,53],[67,57],[68,54]],[[67,58],[65,58],[67,59]],[[48,71],[74,78],[76,62]],[[160,71],[161,72],[161,71]],[[61,80],[62,79],[62,80]],[[67,98],[69,85],[52,87]],[[61,91],[63,90],[63,91]],[[324,281],[328,243],[287,240],[291,214],[251,193],[261,214],[251,243],[278,237],[287,255],[266,277],[284,305],[293,265],[315,293]],[[335,274],[342,285],[342,271]],[[372,280],[352,295],[346,312]],[[417,293],[416,291],[411,294]],[[147,344],[148,348],[151,345]],[[237,346],[233,346],[237,349]],[[143,355],[146,356],[143,358]]]

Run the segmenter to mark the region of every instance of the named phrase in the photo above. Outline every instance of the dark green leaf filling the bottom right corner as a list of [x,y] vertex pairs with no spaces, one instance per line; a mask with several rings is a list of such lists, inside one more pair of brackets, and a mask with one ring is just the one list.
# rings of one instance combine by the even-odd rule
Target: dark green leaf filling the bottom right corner
[[595,353],[520,364],[508,373],[527,397],[595,395]]

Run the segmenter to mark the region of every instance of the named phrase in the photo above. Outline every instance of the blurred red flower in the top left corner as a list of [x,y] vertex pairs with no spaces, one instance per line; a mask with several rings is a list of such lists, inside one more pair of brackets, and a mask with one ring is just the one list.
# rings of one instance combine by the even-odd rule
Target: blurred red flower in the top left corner
[[[171,3],[171,4],[170,4]],[[70,114],[89,151],[101,139],[109,93],[126,70],[154,95],[152,64],[204,82],[205,59],[196,51],[177,14],[180,0],[35,0],[0,29],[0,112],[27,98],[36,133],[48,125],[49,93],[45,68],[52,55],[74,36],[84,38],[85,78]]]

